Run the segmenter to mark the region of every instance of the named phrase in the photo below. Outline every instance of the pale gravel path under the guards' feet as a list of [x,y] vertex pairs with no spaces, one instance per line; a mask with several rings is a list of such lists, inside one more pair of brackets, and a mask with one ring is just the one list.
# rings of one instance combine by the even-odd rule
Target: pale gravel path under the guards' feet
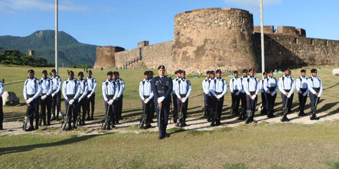
[[[299,117],[297,113],[287,115],[289,122],[284,123],[301,123],[301,124],[314,124],[314,123],[326,123],[327,121],[333,121],[339,119],[339,112],[333,114],[325,114],[325,113],[318,113],[317,117],[320,120],[310,120],[309,116]],[[256,115],[254,116],[254,120],[256,123],[260,123],[261,121],[265,121],[266,123],[282,123],[280,121],[280,114],[276,115],[275,118],[267,118],[265,115]],[[92,135],[92,134],[103,134],[100,130],[101,122],[98,121],[86,121],[85,127],[78,127],[76,130],[72,131],[61,131],[61,122],[60,121],[53,121],[51,126],[42,126],[39,127],[39,130],[25,132],[22,130],[22,122],[13,122],[13,121],[4,121],[3,128],[4,130],[0,131],[0,136],[3,135],[20,135],[20,134],[41,134],[41,135],[53,135],[53,134],[63,134],[63,133],[72,133],[77,134],[78,136],[83,135]],[[213,130],[217,127],[235,127],[239,125],[244,125],[243,120],[237,120],[236,117],[231,119],[222,119],[221,123],[222,126],[211,127],[210,122],[207,122],[204,118],[187,118],[186,123],[188,126],[184,127],[186,130]],[[119,125],[116,125],[117,128],[107,131],[107,132],[144,132],[144,131],[158,131],[157,123],[152,123],[153,128],[149,128],[147,130],[139,129],[139,121],[121,121]],[[167,129],[173,128],[174,123],[168,124]],[[28,126],[27,126],[28,128]]]

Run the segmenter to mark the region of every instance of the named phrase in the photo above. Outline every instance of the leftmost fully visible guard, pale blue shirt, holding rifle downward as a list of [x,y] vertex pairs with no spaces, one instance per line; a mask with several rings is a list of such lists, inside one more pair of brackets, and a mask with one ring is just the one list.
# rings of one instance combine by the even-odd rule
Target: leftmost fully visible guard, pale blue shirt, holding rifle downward
[[[28,79],[25,80],[23,86],[23,97],[28,106],[29,127],[26,131],[39,129],[39,100],[41,94],[41,82],[34,77],[34,70],[28,70]],[[34,113],[33,113],[34,112]],[[35,128],[33,127],[33,119],[35,117]]]

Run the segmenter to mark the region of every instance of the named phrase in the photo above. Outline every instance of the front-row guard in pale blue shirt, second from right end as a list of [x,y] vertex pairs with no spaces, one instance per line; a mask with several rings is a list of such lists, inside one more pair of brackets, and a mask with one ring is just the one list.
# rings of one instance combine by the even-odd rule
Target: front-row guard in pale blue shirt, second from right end
[[[294,77],[288,75],[290,71],[288,69],[284,70],[284,75],[279,77],[278,86],[281,92],[282,106],[287,107],[287,113],[291,113],[291,106],[293,101],[293,92],[296,86]],[[288,98],[288,103],[286,105],[286,98]],[[286,120],[288,118],[286,117]]]

